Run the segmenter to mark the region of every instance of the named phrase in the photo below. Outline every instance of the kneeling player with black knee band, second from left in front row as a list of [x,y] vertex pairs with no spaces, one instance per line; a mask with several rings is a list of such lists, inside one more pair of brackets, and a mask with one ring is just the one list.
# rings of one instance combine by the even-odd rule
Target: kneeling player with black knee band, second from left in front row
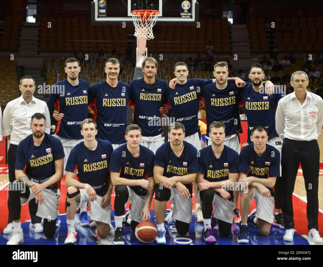
[[[81,203],[90,201],[90,219],[97,224],[97,238],[105,238],[110,231],[112,183],[109,176],[109,160],[113,150],[109,141],[95,139],[98,133],[93,119],[81,123],[84,141],[78,143],[69,154],[66,164],[66,222],[68,234],[64,244],[76,243],[75,212]],[[74,179],[78,169],[79,180]]]

